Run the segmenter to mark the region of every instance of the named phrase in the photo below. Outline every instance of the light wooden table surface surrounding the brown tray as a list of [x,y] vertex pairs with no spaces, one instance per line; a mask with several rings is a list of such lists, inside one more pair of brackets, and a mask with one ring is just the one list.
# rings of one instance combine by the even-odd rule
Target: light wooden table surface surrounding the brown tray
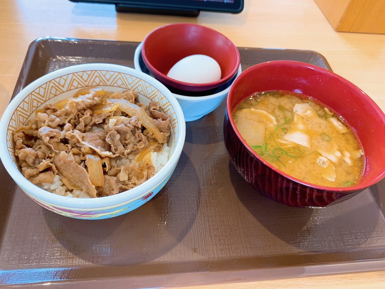
[[[201,12],[197,18],[118,14],[112,5],[68,0],[2,0],[1,4],[0,115],[33,40],[52,36],[140,42],[151,30],[176,22],[218,30],[238,47],[315,50],[334,72],[360,87],[385,111],[385,35],[335,32],[313,0],[246,0],[239,14]],[[377,289],[385,287],[385,271],[236,282],[188,288]]]

